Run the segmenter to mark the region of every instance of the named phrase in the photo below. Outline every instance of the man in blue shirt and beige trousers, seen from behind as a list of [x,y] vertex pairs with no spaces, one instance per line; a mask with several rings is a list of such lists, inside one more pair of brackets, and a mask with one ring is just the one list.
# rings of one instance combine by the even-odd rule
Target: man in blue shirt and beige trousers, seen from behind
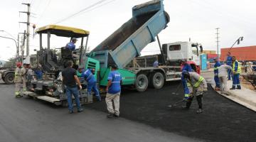
[[[117,72],[117,65],[112,65],[111,72],[107,77],[107,95],[106,95],[106,104],[107,104],[107,114],[108,118],[113,116],[119,117],[119,99],[121,94],[121,84],[122,77],[119,72]],[[114,103],[114,104],[113,104]],[[114,109],[113,109],[114,105]]]

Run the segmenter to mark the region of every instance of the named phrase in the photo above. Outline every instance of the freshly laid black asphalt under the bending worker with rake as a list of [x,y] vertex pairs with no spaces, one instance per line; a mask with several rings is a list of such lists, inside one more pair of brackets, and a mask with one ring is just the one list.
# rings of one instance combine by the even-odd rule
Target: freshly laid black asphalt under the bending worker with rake
[[[142,93],[123,90],[121,116],[203,141],[256,141],[256,113],[220,96],[211,87],[203,97],[203,114],[196,114],[196,99],[190,110],[182,109],[181,105],[167,107],[183,98],[181,88],[178,94],[172,93],[178,84],[180,82],[167,83],[162,89],[149,89]],[[104,101],[90,104],[89,107],[107,112]]]

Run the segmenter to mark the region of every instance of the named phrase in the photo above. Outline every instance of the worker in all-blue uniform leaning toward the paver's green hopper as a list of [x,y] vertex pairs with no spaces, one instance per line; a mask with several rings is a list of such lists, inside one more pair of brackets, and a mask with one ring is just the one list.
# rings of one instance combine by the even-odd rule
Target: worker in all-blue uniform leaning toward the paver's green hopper
[[95,69],[88,68],[85,72],[82,72],[82,77],[85,78],[87,82],[87,93],[91,95],[92,90],[95,92],[95,96],[98,101],[101,101],[100,92],[97,89],[97,80],[95,79]]

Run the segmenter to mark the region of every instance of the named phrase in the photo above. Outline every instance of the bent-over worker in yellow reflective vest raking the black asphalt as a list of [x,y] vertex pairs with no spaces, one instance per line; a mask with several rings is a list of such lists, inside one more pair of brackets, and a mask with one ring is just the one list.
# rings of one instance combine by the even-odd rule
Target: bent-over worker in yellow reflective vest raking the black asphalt
[[186,109],[189,109],[191,107],[193,97],[196,96],[196,100],[198,102],[198,111],[196,111],[196,113],[200,114],[203,112],[203,93],[207,91],[206,80],[198,75],[198,73],[196,72],[188,72],[186,70],[183,70],[182,74],[186,80],[186,85],[188,86],[190,91],[190,95],[185,96]]

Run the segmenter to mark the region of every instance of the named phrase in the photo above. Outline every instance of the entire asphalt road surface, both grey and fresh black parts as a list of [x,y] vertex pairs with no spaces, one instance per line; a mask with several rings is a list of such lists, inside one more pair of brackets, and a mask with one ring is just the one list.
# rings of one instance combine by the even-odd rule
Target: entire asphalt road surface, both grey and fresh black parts
[[256,141],[256,113],[221,97],[209,88],[203,114],[167,107],[183,98],[173,94],[179,82],[138,93],[124,90],[121,118],[107,119],[105,102],[84,107],[80,114],[67,108],[23,97],[14,85],[0,84],[0,141]]

